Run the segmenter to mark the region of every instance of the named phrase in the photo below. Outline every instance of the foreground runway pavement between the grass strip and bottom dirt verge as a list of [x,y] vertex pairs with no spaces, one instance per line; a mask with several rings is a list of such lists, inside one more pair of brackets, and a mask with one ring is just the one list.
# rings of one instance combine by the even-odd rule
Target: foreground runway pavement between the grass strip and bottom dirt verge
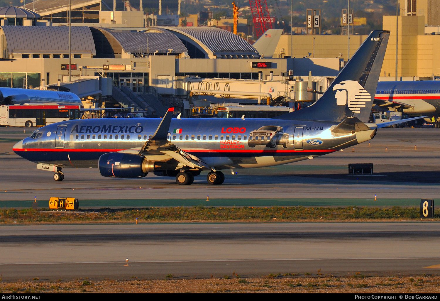
[[[440,224],[0,226],[7,279],[438,274]],[[128,266],[125,259],[128,258]]]

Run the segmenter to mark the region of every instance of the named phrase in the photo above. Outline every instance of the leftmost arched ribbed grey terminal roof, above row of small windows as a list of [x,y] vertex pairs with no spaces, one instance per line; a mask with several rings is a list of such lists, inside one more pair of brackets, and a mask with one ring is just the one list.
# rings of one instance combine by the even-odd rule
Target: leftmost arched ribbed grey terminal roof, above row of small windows
[[[11,53],[66,54],[69,53],[67,26],[1,26]],[[72,26],[72,53],[95,55],[92,32],[87,26]]]

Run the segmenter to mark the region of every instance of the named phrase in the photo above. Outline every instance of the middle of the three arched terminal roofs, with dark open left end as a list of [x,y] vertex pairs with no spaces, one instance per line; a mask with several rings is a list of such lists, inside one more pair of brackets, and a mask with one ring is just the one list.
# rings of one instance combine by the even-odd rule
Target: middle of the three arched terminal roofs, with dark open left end
[[[96,30],[99,30],[101,33],[100,37]],[[92,32],[95,43],[99,41],[101,45],[106,44],[111,46],[114,53],[120,53],[119,51],[123,50],[124,52],[130,52],[132,54],[169,53],[174,55],[188,51],[183,43],[170,32],[149,33],[97,27],[94,27]],[[98,46],[96,47],[98,48]],[[100,50],[108,52],[109,48],[107,47],[107,49],[105,49],[105,47],[103,47],[103,49]],[[100,50],[98,50],[98,53]]]

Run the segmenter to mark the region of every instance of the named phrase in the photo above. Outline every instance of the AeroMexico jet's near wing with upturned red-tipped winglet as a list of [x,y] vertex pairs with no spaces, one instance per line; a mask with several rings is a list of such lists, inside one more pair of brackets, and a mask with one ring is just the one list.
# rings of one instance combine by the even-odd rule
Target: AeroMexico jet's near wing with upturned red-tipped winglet
[[138,154],[139,156],[144,156],[147,160],[153,162],[164,162],[165,164],[175,162],[176,169],[183,168],[184,166],[198,170],[212,169],[201,159],[181,150],[168,140],[167,137],[173,111],[174,108],[168,109],[156,129],[156,132],[154,132],[153,136],[148,139],[142,147],[122,150],[119,152]]

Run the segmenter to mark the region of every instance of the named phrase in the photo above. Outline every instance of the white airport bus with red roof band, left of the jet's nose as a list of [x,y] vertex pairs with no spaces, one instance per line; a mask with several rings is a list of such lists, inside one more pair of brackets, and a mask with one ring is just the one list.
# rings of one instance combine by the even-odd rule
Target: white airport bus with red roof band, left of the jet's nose
[[79,105],[59,106],[57,104],[26,103],[24,105],[0,106],[0,125],[2,126],[29,128],[80,118]]

